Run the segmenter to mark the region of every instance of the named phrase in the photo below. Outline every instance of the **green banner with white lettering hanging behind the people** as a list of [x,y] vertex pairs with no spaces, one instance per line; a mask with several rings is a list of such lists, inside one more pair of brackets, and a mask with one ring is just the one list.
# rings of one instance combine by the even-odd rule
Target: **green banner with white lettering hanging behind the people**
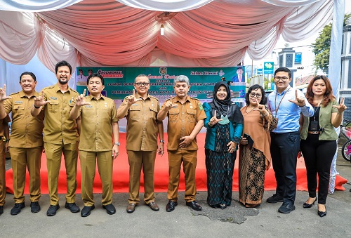
[[[164,101],[175,96],[173,80],[178,75],[186,75],[190,79],[188,95],[201,101],[212,100],[213,86],[223,77],[230,82],[232,100],[244,101],[246,82],[233,82],[237,77],[239,67],[78,67],[77,91],[83,93],[86,88],[88,72],[99,73],[105,79],[103,95],[114,100],[123,100],[133,93],[133,82],[139,74],[145,74],[150,79],[150,95]],[[241,66],[244,71],[245,67]],[[239,72],[239,71],[238,71]],[[245,73],[244,73],[245,74]],[[241,78],[241,77],[240,77]]]

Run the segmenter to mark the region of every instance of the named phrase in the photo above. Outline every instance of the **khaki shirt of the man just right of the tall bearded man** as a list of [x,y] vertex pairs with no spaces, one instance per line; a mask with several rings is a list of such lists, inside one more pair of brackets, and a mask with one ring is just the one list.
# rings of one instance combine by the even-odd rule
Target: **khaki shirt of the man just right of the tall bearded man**
[[112,122],[118,122],[114,100],[101,96],[96,100],[92,95],[85,97],[87,103],[80,108],[81,140],[79,150],[112,150]]

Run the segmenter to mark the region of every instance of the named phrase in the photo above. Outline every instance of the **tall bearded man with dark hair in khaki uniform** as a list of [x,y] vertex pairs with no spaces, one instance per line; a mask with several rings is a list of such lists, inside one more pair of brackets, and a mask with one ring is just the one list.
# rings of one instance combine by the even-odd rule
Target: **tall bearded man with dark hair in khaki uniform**
[[79,135],[77,122],[69,118],[74,99],[79,93],[69,88],[72,67],[65,60],[55,65],[58,84],[43,88],[39,97],[34,98],[32,116],[37,117],[44,110],[44,148],[48,166],[48,192],[50,207],[47,216],[55,216],[58,204],[58,174],[62,152],[65,157],[67,194],[65,208],[72,213],[80,211],[75,204],[77,189],[77,145]]

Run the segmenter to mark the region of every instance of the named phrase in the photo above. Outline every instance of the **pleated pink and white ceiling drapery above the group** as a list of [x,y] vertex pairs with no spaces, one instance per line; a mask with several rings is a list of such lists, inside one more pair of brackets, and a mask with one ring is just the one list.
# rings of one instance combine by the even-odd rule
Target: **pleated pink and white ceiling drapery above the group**
[[[32,4],[27,12],[4,11],[4,2],[0,57],[25,64],[37,53],[52,71],[62,59],[73,67],[149,66],[155,60],[173,67],[237,65],[246,52],[253,60],[264,58],[280,35],[286,41],[310,37],[333,11],[333,0],[51,0],[46,6],[57,10],[35,12],[39,0],[20,1],[24,9]],[[178,13],[156,20],[166,10]]]

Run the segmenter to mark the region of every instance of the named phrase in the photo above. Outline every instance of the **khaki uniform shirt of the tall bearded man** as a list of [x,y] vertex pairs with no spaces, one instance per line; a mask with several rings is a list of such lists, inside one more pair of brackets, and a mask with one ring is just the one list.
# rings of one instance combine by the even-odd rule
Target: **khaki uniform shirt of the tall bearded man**
[[44,142],[57,145],[76,143],[79,140],[76,120],[69,119],[79,93],[68,87],[62,93],[58,84],[43,88],[44,100]]

